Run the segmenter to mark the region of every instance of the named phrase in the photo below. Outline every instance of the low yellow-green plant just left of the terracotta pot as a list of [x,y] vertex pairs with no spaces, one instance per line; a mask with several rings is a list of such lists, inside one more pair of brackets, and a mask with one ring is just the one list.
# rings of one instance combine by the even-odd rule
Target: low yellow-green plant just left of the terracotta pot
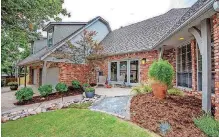
[[139,86],[132,87],[131,92],[134,94],[145,94],[152,92],[152,88],[148,84],[141,84]]

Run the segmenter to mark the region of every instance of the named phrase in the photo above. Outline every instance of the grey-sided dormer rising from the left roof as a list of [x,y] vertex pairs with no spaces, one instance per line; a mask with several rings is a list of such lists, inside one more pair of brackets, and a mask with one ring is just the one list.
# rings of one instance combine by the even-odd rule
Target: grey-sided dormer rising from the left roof
[[85,26],[87,22],[50,22],[43,31],[47,32],[47,46],[52,47],[75,31]]

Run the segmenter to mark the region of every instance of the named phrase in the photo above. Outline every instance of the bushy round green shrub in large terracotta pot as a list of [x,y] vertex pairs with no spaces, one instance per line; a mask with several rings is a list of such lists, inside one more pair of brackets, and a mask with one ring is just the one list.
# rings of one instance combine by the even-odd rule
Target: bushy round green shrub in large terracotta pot
[[164,99],[174,76],[172,65],[164,60],[155,61],[149,68],[148,76],[154,96]]

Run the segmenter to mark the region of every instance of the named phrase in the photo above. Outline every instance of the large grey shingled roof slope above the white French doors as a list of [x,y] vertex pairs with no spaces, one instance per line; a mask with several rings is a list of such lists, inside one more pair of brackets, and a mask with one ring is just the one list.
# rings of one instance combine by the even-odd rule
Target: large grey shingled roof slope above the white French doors
[[149,50],[187,10],[172,9],[160,16],[112,31],[101,42],[104,52],[110,55]]

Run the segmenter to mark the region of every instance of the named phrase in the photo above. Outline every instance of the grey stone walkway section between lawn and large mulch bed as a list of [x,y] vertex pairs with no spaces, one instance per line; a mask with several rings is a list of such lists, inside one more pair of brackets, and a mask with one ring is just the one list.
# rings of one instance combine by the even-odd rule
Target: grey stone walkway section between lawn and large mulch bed
[[90,109],[130,120],[131,98],[132,96],[105,97],[94,103]]

